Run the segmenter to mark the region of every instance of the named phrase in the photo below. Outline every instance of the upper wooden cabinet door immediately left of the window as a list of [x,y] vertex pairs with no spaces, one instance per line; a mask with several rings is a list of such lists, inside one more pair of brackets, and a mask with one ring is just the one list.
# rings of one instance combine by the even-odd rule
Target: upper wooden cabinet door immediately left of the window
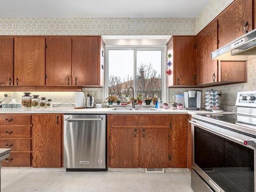
[[99,85],[100,37],[72,38],[72,82],[74,86]]

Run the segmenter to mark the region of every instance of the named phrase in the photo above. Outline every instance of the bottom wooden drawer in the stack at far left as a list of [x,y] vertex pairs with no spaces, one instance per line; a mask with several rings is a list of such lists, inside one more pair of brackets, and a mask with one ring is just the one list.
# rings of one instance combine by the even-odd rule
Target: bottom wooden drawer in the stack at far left
[[30,153],[10,153],[10,156],[1,161],[2,166],[30,166]]

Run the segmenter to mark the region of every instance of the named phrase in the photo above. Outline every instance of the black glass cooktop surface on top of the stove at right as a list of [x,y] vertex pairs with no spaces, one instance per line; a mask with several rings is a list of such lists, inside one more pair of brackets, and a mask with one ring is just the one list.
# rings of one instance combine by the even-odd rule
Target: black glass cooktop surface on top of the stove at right
[[208,114],[200,116],[256,129],[256,117],[239,114]]

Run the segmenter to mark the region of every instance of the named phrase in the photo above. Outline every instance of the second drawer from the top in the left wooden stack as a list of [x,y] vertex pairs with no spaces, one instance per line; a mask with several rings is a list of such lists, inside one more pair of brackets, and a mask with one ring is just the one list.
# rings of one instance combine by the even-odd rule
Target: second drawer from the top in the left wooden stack
[[30,125],[0,125],[0,137],[30,137],[31,126]]

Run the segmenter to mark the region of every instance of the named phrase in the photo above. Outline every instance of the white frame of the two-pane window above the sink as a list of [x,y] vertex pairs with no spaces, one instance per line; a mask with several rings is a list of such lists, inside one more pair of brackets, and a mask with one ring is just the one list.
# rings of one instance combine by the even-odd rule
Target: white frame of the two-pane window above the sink
[[[134,50],[134,87],[136,84],[137,77],[137,51],[146,51],[146,50],[160,50],[162,52],[161,58],[161,78],[162,78],[162,101],[168,102],[169,100],[169,92],[166,87],[166,46],[105,46],[106,49],[106,70],[105,70],[105,86],[103,88],[102,99],[106,100],[109,94],[109,50]],[[135,97],[137,96],[137,89],[135,91]]]

